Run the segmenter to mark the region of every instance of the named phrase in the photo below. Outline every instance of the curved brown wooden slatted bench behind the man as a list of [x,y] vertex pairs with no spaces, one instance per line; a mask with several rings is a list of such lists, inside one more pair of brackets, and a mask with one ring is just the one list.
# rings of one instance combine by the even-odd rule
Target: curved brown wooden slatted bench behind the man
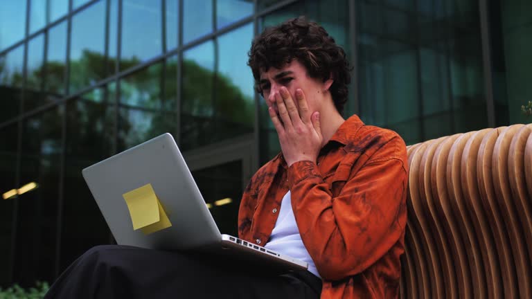
[[401,298],[532,298],[532,125],[407,149]]

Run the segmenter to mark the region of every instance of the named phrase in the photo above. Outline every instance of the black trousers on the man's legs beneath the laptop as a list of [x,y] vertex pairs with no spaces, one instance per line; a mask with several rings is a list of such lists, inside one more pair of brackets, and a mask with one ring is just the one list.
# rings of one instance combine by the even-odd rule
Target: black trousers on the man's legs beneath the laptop
[[91,248],[45,298],[319,298],[308,271],[284,275],[207,255],[132,246]]

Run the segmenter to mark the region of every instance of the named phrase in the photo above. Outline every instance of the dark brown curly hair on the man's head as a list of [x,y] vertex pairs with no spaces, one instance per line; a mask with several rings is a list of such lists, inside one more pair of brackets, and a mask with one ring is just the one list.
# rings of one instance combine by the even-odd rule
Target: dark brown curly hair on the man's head
[[307,69],[311,78],[332,79],[330,93],[337,111],[342,114],[347,101],[348,84],[351,82],[351,66],[344,49],[318,24],[305,17],[289,19],[278,26],[266,28],[251,44],[247,64],[253,71],[255,89],[261,95],[258,84],[260,72],[269,68],[281,69],[296,59]]

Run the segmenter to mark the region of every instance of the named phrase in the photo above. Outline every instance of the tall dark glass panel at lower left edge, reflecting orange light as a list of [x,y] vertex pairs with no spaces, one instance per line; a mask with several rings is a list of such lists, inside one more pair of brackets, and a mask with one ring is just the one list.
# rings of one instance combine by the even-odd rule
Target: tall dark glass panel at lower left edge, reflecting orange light
[[11,284],[12,267],[12,230],[15,196],[9,197],[17,186],[17,144],[18,125],[0,129],[0,285]]

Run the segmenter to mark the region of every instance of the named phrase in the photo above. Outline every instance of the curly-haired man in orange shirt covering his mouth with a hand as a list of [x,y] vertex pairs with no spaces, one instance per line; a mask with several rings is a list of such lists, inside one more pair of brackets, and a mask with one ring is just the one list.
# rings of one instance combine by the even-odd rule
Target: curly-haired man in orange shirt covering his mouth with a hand
[[242,239],[309,263],[272,275],[204,256],[129,246],[87,251],[48,298],[396,298],[407,155],[394,132],[341,112],[349,66],[326,30],[291,19],[249,52],[282,152],[240,203]]

